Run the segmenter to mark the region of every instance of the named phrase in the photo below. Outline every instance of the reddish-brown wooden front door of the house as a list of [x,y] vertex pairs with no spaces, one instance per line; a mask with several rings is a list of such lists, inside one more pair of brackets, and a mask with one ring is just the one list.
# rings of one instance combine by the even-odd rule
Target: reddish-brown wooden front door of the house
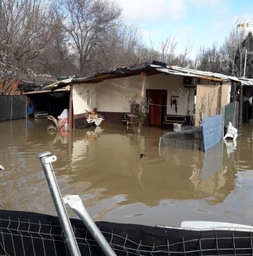
[[165,92],[163,90],[148,90],[147,95],[150,99],[150,125],[161,126],[163,105],[165,105]]

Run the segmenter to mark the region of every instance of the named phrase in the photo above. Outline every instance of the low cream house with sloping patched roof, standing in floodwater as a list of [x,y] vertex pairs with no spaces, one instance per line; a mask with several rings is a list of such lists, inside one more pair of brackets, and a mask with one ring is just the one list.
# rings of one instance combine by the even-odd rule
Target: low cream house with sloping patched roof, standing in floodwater
[[[61,104],[40,102],[48,105],[45,106],[47,109],[56,108],[57,105],[58,112],[69,108],[72,125],[74,119],[94,109],[103,114],[107,122],[121,123],[127,118],[125,113],[130,112],[126,97],[138,94],[150,99],[145,125],[163,127],[179,122],[200,126],[200,115],[221,113],[223,106],[235,100],[242,104],[239,90],[246,83],[251,84],[251,81],[218,73],[168,67],[165,63],[153,61],[117,68],[111,72],[68,78],[44,90],[26,94],[41,99],[42,95],[49,94],[60,99]],[[40,108],[43,109],[43,106]],[[238,118],[241,122],[240,115]]]

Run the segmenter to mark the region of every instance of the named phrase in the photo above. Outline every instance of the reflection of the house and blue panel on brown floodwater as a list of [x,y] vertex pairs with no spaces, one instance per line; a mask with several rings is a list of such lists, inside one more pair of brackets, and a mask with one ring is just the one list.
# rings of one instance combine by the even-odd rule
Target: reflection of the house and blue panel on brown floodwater
[[[126,195],[124,204],[141,201],[151,206],[161,199],[210,196],[215,197],[213,203],[219,203],[233,190],[233,182],[226,184],[221,143],[206,153],[167,147],[161,157],[146,135],[110,133],[96,142],[85,140],[85,146],[82,141],[74,142],[75,177],[71,182],[88,179],[90,188],[105,188],[109,196]],[[140,153],[145,153],[146,158],[140,159]],[[226,193],[220,192],[225,185]]]

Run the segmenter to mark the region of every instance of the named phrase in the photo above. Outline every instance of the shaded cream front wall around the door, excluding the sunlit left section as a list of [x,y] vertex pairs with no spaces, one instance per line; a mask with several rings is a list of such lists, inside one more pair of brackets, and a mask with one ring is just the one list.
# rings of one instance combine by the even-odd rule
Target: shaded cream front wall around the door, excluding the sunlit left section
[[[126,96],[130,94],[140,96],[141,88],[141,75],[100,82],[97,84],[97,108],[102,112],[130,112]],[[146,89],[167,90],[167,114],[187,115],[188,88],[184,88],[182,76],[165,76],[163,74],[147,76],[145,92]],[[182,96],[175,98],[178,113],[175,112],[174,105],[172,109],[170,106],[170,97],[175,95]],[[190,89],[189,104],[194,104],[194,89]]]

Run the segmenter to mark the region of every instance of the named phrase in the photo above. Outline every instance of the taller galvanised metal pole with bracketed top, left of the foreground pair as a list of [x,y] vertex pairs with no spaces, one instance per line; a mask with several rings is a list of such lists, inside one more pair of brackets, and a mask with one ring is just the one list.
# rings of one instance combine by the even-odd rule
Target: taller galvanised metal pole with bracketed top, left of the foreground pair
[[56,156],[49,156],[51,152],[46,151],[37,155],[37,158],[40,159],[41,166],[45,173],[45,177],[48,181],[48,187],[50,189],[53,203],[56,208],[59,220],[61,222],[62,230],[64,232],[66,242],[69,247],[71,256],[81,256],[79,251],[77,241],[75,240],[73,230],[69,221],[69,217],[64,206],[64,202],[61,197],[60,189],[57,184],[56,176],[53,172],[52,162],[57,160]]

